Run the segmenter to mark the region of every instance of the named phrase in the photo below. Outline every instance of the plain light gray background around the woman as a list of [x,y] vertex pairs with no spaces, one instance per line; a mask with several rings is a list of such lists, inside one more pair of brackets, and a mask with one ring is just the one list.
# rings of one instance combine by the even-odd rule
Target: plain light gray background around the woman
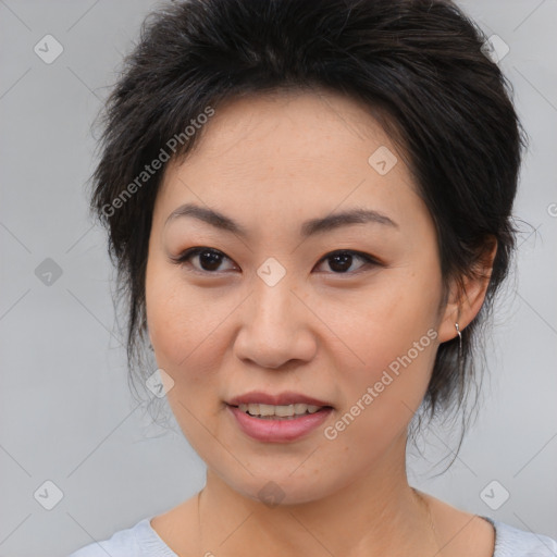
[[[203,484],[205,466],[177,425],[152,424],[129,395],[113,273],[84,188],[90,125],[156,5],[0,0],[0,556],[67,555]],[[498,307],[476,425],[438,478],[435,465],[455,445],[432,432],[423,457],[409,457],[410,480],[457,507],[557,537],[557,2],[461,5],[510,49],[500,65],[531,137],[515,214],[533,227]],[[34,52],[47,34],[64,49],[51,64]],[[50,285],[36,274],[47,258],[62,271]],[[34,497],[47,480],[63,492],[52,510],[38,502],[52,488]],[[492,506],[510,494],[496,510],[481,496],[494,480]]]

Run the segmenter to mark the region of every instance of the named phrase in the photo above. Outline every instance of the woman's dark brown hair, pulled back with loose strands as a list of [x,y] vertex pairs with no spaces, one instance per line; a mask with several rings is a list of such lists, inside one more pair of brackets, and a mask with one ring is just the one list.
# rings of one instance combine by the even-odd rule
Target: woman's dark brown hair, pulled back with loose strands
[[472,347],[515,247],[510,216],[525,145],[510,85],[484,41],[446,0],[188,0],[152,13],[108,99],[91,193],[127,313],[129,375],[145,381],[154,371],[139,354],[166,162],[149,176],[146,164],[186,159],[208,107],[281,89],[331,90],[361,101],[400,145],[436,226],[445,284],[473,274],[497,242],[484,305],[462,331],[462,358],[457,337],[440,346],[422,404],[430,418],[460,409],[478,388]]

